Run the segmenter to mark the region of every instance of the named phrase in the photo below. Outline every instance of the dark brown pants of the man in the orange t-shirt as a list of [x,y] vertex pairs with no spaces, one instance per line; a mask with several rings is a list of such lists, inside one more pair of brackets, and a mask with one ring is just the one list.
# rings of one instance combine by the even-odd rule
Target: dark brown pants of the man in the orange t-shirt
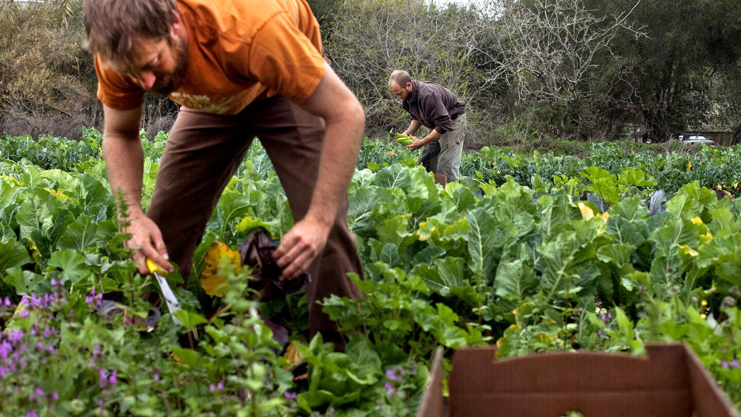
[[[324,134],[324,120],[280,96],[253,103],[234,116],[180,111],[167,139],[147,216],[159,226],[170,260],[186,280],[206,223],[253,138],[258,137],[268,152],[298,221],[311,203]],[[361,295],[347,278],[348,272],[362,276],[347,211],[345,196],[324,252],[308,269],[312,283],[306,291],[310,336],[322,332],[325,341],[338,349],[345,342],[316,301],[333,294]]]

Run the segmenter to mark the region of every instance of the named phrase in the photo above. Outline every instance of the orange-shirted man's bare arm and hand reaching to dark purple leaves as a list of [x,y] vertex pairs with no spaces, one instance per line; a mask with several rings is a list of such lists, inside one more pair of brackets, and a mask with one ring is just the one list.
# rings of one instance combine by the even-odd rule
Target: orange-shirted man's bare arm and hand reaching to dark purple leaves
[[307,269],[324,249],[339,206],[347,198],[365,128],[360,102],[328,65],[319,86],[301,106],[325,119],[327,132],[308,213],[274,253],[284,278]]

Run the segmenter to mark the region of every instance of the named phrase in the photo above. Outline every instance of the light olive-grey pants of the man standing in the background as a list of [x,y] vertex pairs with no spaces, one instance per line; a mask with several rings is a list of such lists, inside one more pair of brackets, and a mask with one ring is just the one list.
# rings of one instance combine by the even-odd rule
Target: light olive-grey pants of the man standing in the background
[[465,137],[465,113],[453,120],[453,128],[422,148],[419,163],[429,172],[448,174],[448,183],[460,180],[461,154]]

